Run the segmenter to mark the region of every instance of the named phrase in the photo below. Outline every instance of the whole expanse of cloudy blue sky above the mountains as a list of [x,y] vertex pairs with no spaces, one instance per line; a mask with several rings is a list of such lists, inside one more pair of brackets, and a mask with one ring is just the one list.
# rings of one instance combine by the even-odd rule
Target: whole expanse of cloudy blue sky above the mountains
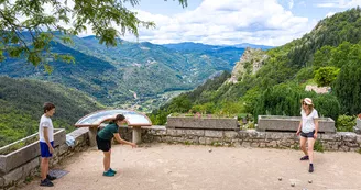
[[[156,44],[197,42],[214,45],[278,46],[299,38],[317,22],[361,5],[361,0],[141,0],[130,8],[155,29],[140,29],[138,41]],[[125,35],[128,41],[136,41]]]

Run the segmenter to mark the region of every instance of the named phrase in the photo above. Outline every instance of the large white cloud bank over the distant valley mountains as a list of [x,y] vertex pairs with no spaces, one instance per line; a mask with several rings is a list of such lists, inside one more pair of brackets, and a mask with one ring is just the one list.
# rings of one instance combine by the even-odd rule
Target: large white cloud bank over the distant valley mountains
[[[190,41],[283,45],[316,25],[315,21],[293,15],[276,0],[204,0],[195,10],[172,16],[136,12],[141,20],[156,24],[154,30],[140,29],[139,41],[157,44]],[[125,35],[125,40],[134,37]]]

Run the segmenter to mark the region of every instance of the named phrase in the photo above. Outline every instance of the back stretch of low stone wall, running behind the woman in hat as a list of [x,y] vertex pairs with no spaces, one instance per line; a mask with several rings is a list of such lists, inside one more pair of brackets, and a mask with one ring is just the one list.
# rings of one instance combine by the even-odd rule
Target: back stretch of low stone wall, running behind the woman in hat
[[[131,141],[131,128],[121,128],[122,138]],[[298,149],[299,137],[295,133],[212,130],[174,130],[165,126],[142,127],[144,143],[196,144],[214,146],[242,146],[260,148]],[[319,134],[318,141],[325,150],[359,152],[361,135],[351,132]]]

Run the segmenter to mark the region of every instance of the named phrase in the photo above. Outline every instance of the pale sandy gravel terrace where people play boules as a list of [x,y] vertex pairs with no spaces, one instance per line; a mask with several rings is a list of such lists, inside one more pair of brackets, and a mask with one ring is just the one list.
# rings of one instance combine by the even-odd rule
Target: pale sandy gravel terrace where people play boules
[[116,145],[111,160],[118,170],[114,177],[101,176],[102,153],[89,148],[55,167],[69,174],[55,180],[54,188],[41,188],[35,178],[22,189],[361,189],[360,154],[316,153],[314,174],[308,174],[308,163],[299,161],[300,156],[300,150],[292,149],[167,144],[132,149]]

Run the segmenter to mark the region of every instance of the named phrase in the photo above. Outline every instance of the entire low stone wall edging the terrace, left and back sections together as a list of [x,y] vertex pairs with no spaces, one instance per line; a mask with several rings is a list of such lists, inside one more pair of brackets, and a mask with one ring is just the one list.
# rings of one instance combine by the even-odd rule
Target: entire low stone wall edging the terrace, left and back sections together
[[[72,132],[75,146],[61,144],[55,147],[51,166],[72,156],[75,152],[85,150],[89,144],[88,128],[83,127]],[[121,137],[127,141],[132,138],[132,128],[122,126],[119,130]],[[350,132],[335,134],[319,134],[319,142],[325,150],[359,152],[361,135]],[[247,131],[216,131],[216,130],[184,130],[166,128],[165,126],[142,127],[144,143],[168,143],[185,145],[212,145],[260,148],[298,148],[298,137],[295,133]],[[17,183],[28,180],[39,174],[40,157],[36,157],[15,169],[0,176],[0,189],[13,189]]]

